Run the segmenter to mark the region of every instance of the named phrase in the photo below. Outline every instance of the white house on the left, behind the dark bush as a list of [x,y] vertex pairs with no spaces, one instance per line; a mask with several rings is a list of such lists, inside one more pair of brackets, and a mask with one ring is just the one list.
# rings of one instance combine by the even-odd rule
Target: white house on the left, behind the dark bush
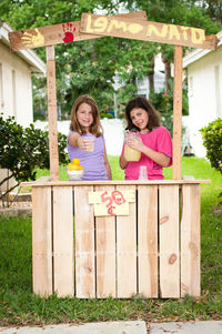
[[[4,118],[13,115],[27,128],[33,122],[31,73],[46,74],[46,64],[32,50],[12,51],[10,31],[12,28],[0,20],[0,113]],[[8,173],[0,170],[0,180]]]

